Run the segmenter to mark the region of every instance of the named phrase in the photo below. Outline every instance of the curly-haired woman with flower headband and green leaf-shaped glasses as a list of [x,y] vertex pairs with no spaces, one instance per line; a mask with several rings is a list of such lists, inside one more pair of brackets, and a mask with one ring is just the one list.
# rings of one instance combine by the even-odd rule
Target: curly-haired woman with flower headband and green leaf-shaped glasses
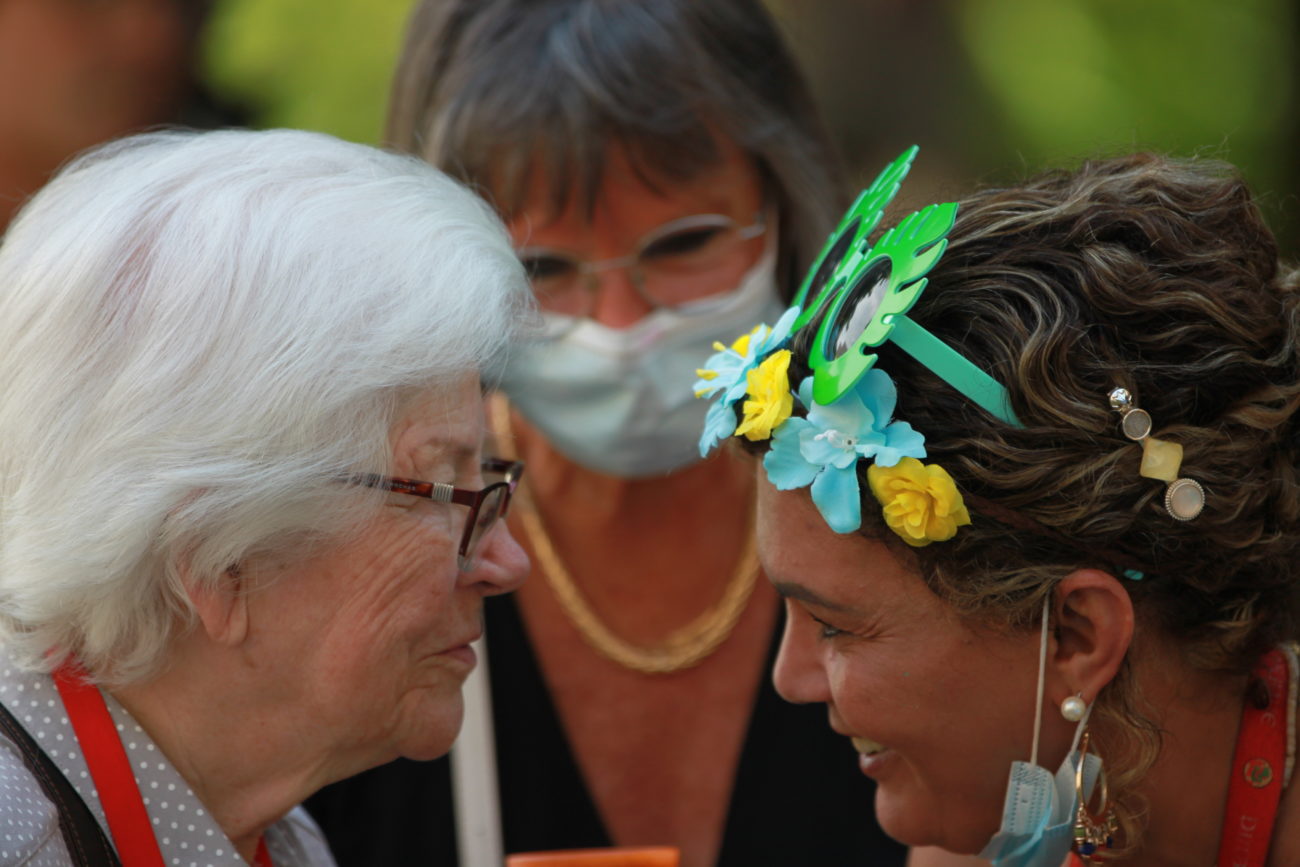
[[708,363],[777,688],[890,836],[965,854],[916,867],[1300,863],[1300,272],[1235,173],[1150,155],[859,243],[909,159]]

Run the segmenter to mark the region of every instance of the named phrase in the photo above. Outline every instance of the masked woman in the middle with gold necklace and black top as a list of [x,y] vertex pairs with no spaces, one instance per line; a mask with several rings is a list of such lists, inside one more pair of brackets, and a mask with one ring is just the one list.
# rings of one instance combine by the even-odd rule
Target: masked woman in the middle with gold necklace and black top
[[[826,771],[842,742],[771,688],[777,599],[751,512],[720,508],[753,503],[753,471],[698,446],[699,359],[784,308],[841,203],[767,13],[429,0],[389,133],[494,201],[545,315],[495,413],[529,465],[512,519],[534,562],[486,624],[504,850],[901,863],[870,781]],[[458,747],[462,792],[484,754]],[[454,835],[450,797],[446,766],[396,764],[313,806],[344,864],[450,863],[452,842],[489,863],[467,846],[495,828]],[[467,803],[462,823],[494,799]]]

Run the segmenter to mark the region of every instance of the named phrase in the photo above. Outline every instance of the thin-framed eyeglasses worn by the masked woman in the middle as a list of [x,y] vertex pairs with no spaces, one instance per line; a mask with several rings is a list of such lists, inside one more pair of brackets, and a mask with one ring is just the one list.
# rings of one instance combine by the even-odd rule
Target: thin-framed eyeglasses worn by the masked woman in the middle
[[618,259],[585,261],[551,247],[516,252],[543,311],[584,317],[595,308],[597,277],[615,268],[628,269],[632,285],[653,307],[680,308],[725,295],[745,273],[745,242],[766,229],[762,213],[749,226],[720,213],[702,213],[666,222]]

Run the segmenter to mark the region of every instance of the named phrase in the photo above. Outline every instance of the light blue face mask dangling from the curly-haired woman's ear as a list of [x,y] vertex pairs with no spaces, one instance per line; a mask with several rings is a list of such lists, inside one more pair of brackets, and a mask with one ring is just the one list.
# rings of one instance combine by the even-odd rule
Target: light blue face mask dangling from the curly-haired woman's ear
[[[1079,740],[1088,725],[1092,705],[1087,707],[1079,727],[1074,731],[1070,751],[1056,776],[1039,764],[1039,734],[1043,729],[1043,686],[1048,656],[1048,607],[1050,594],[1043,603],[1043,638],[1039,646],[1037,710],[1034,715],[1034,746],[1028,762],[1013,762],[1011,777],[1006,784],[1002,806],[1002,825],[979,853],[996,867],[1060,867],[1070,851],[1071,829],[1079,798],[1075,790],[1075,772],[1079,767]],[[1093,753],[1083,760],[1084,798],[1092,797],[1092,788],[1101,773],[1101,759]]]

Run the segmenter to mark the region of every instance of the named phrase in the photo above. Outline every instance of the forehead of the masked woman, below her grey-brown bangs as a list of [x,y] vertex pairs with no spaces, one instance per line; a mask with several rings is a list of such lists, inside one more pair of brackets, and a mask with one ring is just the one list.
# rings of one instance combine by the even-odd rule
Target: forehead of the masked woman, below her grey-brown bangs
[[[607,146],[604,170],[590,209],[576,191],[556,209],[549,178],[534,170],[520,207],[507,217],[516,246],[577,240],[593,230],[636,240],[671,220],[722,213],[748,224],[763,207],[760,173],[736,144],[720,140],[720,159],[689,179],[651,178],[618,143]],[[551,239],[551,240],[549,240]]]

